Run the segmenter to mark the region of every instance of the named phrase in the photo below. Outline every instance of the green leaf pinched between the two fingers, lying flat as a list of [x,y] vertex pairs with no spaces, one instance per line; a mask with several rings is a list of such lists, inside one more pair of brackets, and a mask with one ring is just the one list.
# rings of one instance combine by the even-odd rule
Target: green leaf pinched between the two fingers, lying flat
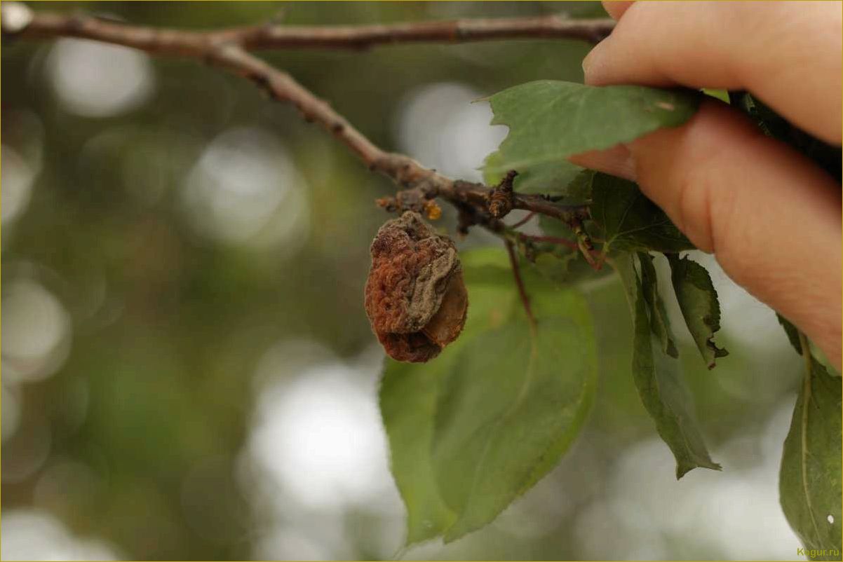
[[486,166],[505,173],[574,154],[631,142],[694,115],[701,94],[643,86],[586,86],[540,80],[508,88],[489,98],[492,125],[509,126],[499,156]]

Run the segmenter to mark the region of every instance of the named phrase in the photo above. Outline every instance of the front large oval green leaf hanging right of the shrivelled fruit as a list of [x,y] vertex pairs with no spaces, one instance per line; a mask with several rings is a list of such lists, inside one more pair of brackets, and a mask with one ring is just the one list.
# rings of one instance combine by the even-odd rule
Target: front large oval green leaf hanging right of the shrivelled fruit
[[583,426],[597,366],[588,308],[572,291],[555,300],[559,312],[545,313],[535,335],[526,320],[486,332],[443,380],[433,465],[458,514],[446,542],[491,522],[529,490]]

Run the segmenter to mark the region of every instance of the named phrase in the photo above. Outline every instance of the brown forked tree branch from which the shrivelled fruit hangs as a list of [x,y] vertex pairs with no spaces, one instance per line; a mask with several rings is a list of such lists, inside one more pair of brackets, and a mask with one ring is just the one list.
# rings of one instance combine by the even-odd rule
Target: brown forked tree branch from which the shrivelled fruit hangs
[[[264,89],[273,99],[298,109],[303,118],[314,122],[365,163],[370,170],[384,174],[407,189],[395,198],[386,198],[381,205],[394,210],[412,208],[422,211],[427,201],[436,197],[451,202],[460,213],[460,230],[480,224],[492,232],[502,233],[499,219],[506,213],[489,212],[495,190],[486,185],[450,179],[421,166],[404,154],[386,153],[357,131],[330,104],[317,98],[296,82],[287,72],[272,67],[247,49],[279,46],[361,47],[401,41],[483,40],[512,37],[579,37],[595,39],[608,33],[611,25],[603,20],[564,20],[556,17],[526,19],[479,19],[420,24],[368,25],[361,27],[279,28],[272,25],[219,31],[195,32],[172,29],[151,29],[76,15],[34,13],[22,3],[4,2],[3,35],[20,39],[77,37],[125,45],[153,54],[186,56],[223,67]],[[602,36],[602,35],[601,35]],[[418,206],[418,208],[416,208]],[[556,217],[569,225],[577,225],[588,217],[583,206],[562,206],[542,195],[511,195],[511,208],[524,209]]]

